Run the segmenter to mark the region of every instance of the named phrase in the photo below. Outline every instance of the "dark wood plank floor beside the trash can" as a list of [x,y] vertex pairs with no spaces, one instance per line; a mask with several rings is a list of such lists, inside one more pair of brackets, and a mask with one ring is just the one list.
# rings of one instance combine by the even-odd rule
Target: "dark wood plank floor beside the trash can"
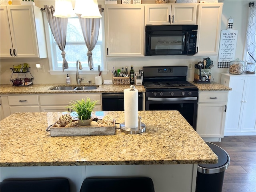
[[256,136],[224,136],[212,143],[230,156],[222,192],[256,192]]

